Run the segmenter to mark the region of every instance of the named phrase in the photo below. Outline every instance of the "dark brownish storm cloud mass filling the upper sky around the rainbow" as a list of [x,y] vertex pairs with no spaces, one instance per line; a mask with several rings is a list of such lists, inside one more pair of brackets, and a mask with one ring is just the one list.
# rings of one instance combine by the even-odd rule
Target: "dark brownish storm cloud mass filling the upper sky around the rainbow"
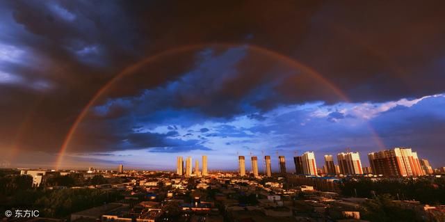
[[[348,5],[291,1],[2,1],[0,145],[58,150],[76,116],[106,81],[142,58],[182,45],[259,45],[309,65],[353,101],[440,93],[445,82],[442,8],[443,1],[403,5],[383,1]],[[14,47],[23,53],[13,57],[12,52],[17,51]],[[214,54],[207,58],[227,54],[230,49],[213,47]],[[175,90],[161,90],[156,94],[159,98],[150,98],[154,102],[145,112],[154,120],[181,114],[184,109],[197,109],[202,116],[231,117],[246,111],[266,111],[279,104],[339,100],[332,89],[301,70],[250,49],[245,49],[233,64],[218,61],[209,66],[211,72],[181,79],[204,63],[199,54],[203,51],[206,47],[150,63],[120,81],[106,97],[132,100],[147,90],[177,82],[180,86]],[[221,70],[229,72],[218,72]],[[16,80],[11,82],[11,78]],[[106,98],[100,103],[106,104]],[[165,106],[170,110],[156,113]],[[132,103],[118,104],[111,106],[106,116],[97,118],[113,122],[131,112]],[[91,124],[100,125],[94,120],[88,118]],[[107,122],[106,129],[92,132],[96,141],[101,141],[95,147],[117,150],[126,138],[140,147],[171,145],[164,144],[165,135],[134,134],[131,129],[138,122],[131,124]],[[172,128],[172,132],[177,130]],[[79,143],[82,140],[80,136],[77,139]],[[74,150],[83,148],[73,146]]]

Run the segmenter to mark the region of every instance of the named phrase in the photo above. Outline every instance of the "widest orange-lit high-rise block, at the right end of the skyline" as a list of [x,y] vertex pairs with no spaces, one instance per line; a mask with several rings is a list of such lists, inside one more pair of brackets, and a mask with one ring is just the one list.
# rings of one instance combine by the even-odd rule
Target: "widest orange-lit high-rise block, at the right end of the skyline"
[[411,148],[394,148],[368,154],[375,175],[407,177],[424,175],[416,152]]

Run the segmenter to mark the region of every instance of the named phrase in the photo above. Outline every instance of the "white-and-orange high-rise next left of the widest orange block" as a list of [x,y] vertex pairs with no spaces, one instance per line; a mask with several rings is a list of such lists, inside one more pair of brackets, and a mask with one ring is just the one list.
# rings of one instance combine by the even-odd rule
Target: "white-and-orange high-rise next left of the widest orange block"
[[362,161],[360,161],[359,152],[341,152],[337,154],[340,173],[344,175],[363,174]]

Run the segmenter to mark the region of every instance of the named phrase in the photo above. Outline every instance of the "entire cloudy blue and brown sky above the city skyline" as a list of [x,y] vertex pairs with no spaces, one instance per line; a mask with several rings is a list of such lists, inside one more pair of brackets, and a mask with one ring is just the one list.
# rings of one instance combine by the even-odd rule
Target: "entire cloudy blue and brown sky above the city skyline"
[[293,171],[395,147],[445,166],[444,6],[0,1],[0,166]]

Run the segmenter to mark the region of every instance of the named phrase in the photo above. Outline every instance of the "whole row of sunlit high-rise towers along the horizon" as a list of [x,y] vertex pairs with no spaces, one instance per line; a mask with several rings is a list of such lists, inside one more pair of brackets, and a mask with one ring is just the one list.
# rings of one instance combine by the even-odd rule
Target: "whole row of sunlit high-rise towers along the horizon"
[[[411,148],[394,148],[393,150],[382,150],[380,152],[371,152],[368,154],[371,166],[362,166],[359,152],[340,152],[337,154],[338,165],[334,164],[332,155],[324,156],[325,165],[323,168],[317,168],[314,152],[304,152],[301,156],[293,157],[296,174],[298,175],[363,175],[374,174],[384,175],[386,177],[406,177],[421,176],[434,173],[427,159],[419,160],[417,153]],[[251,157],[252,170],[246,172],[245,157],[238,156],[238,173],[241,177],[252,175],[259,176],[258,157]],[[264,156],[264,175],[272,176],[272,167],[270,156]],[[278,156],[279,170],[281,174],[286,173],[286,159],[284,156]],[[193,169],[193,172],[192,172]],[[122,165],[120,170],[122,171]],[[177,175],[208,175],[207,156],[202,156],[202,171],[200,171],[199,161],[195,161],[195,167],[192,168],[192,158],[186,158],[184,168],[183,157],[177,157]]]

